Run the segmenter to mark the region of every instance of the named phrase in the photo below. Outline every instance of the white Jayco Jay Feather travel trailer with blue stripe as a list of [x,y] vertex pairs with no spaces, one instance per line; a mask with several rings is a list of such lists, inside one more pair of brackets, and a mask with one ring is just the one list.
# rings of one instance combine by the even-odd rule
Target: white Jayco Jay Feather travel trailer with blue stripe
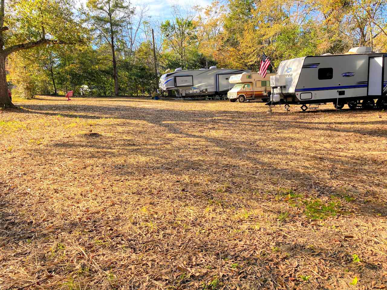
[[[342,55],[321,55],[281,61],[271,76],[273,93],[267,105],[332,102],[337,109],[345,104],[356,109],[387,109],[387,53],[356,47]],[[377,99],[375,106],[375,99]]]

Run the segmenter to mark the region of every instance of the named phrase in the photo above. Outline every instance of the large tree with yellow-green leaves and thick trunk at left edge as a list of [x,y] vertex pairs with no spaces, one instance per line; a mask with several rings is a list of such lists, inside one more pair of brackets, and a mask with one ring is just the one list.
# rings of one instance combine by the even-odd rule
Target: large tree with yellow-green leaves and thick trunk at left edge
[[14,107],[7,94],[5,58],[47,44],[78,44],[86,30],[74,20],[70,0],[0,0],[0,106]]

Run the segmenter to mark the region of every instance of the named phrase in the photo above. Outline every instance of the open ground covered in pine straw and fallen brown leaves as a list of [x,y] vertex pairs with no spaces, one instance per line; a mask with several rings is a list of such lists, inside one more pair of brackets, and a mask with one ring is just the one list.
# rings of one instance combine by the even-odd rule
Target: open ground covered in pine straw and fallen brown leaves
[[385,112],[16,104],[0,112],[2,290],[387,285]]

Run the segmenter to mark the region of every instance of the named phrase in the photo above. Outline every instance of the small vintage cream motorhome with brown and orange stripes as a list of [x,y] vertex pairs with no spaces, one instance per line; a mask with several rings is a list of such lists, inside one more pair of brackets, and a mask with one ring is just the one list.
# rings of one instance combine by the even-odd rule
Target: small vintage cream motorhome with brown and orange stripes
[[229,78],[230,84],[235,84],[234,87],[229,90],[227,97],[230,102],[244,102],[246,100],[260,100],[266,102],[270,98],[270,76],[274,73],[267,73],[265,78],[259,73],[240,73],[238,75],[232,75]]

